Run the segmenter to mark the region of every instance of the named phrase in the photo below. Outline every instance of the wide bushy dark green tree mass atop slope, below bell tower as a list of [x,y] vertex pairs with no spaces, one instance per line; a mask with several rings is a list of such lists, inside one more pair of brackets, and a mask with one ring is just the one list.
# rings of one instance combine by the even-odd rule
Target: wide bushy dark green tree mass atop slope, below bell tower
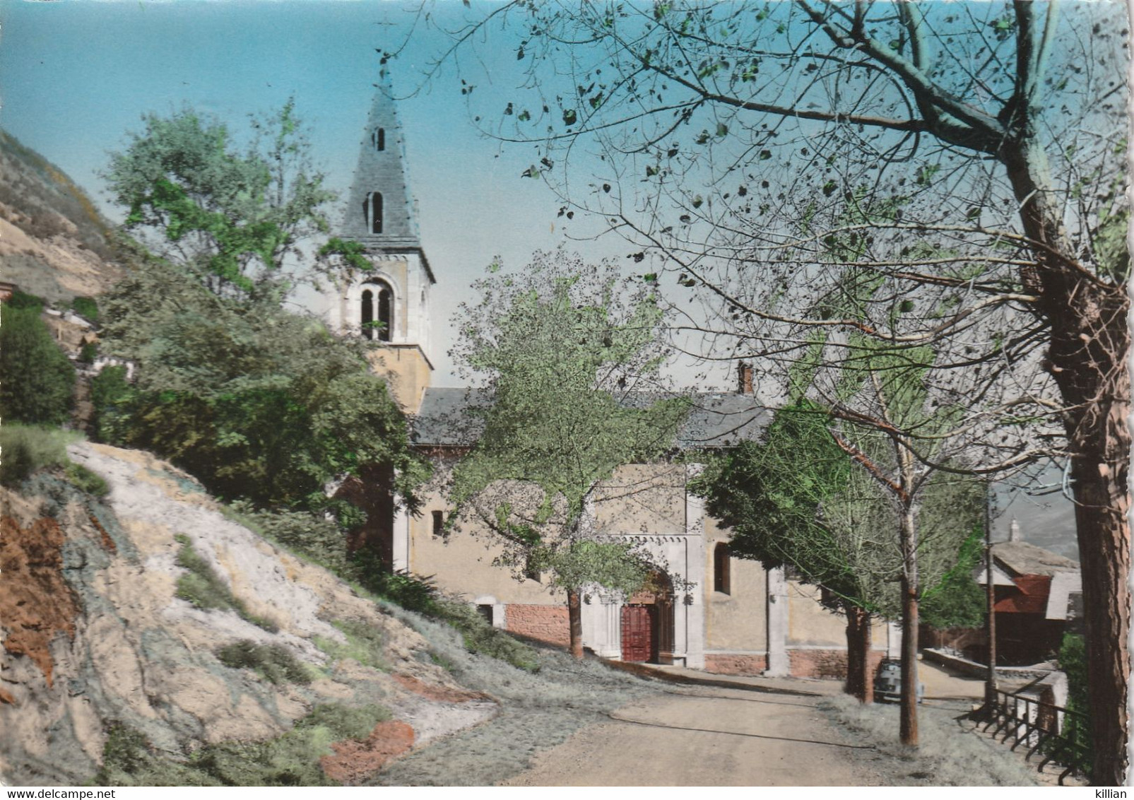
[[366,345],[271,297],[220,297],[195,273],[138,254],[103,298],[103,346],[136,365],[93,396],[100,431],[147,447],[226,498],[321,508],[364,465],[396,472],[407,503],[428,473]]

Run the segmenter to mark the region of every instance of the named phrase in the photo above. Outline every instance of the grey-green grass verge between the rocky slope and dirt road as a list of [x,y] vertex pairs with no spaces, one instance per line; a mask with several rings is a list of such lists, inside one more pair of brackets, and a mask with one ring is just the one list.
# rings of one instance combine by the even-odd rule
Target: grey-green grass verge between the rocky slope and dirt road
[[661,691],[659,684],[562,650],[532,647],[539,671],[530,672],[469,652],[458,631],[400,607],[386,607],[425,637],[431,660],[463,687],[500,704],[491,721],[434,742],[386,767],[379,785],[492,785],[526,769],[540,750],[564,742],[575,731],[607,722],[613,709]]

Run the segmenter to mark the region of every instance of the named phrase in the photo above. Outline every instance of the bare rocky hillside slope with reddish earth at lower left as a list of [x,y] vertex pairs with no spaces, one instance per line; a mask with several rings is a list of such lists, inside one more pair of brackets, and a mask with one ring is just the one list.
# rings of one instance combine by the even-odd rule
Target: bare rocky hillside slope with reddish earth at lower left
[[188,475],[71,445],[104,499],[0,489],[0,780],[311,784],[496,713],[325,570],[237,524]]

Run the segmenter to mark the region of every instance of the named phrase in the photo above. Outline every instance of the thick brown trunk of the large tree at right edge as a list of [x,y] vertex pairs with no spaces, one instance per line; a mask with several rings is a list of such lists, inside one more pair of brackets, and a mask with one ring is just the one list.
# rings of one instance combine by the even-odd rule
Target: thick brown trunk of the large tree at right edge
[[[1033,140],[1034,141],[1034,140]],[[1088,675],[1097,785],[1126,773],[1126,683],[1129,679],[1131,449],[1129,298],[1124,285],[1094,281],[1074,267],[1052,202],[1047,159],[1024,141],[1000,153],[1036,261],[1024,285],[1040,296],[1051,326],[1048,370],[1063,396],[1075,527],[1083,579]],[[1065,255],[1066,254],[1066,255]]]

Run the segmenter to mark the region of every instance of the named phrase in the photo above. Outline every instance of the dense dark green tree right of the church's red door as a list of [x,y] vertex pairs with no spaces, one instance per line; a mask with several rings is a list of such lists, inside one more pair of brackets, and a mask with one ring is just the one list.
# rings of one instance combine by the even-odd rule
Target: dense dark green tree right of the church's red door
[[[836,444],[831,426],[812,401],[781,409],[760,441],[741,443],[710,461],[694,490],[733,529],[734,555],[789,565],[837,598],[847,618],[846,690],[871,702],[871,622],[900,615],[902,549],[894,504]],[[865,437],[858,446],[880,460]],[[938,474],[919,498],[920,525],[932,532],[920,541],[919,569],[933,596],[951,597],[946,584],[962,569],[951,562],[970,530],[964,521],[976,513],[973,482],[959,482],[958,492],[958,478]]]

